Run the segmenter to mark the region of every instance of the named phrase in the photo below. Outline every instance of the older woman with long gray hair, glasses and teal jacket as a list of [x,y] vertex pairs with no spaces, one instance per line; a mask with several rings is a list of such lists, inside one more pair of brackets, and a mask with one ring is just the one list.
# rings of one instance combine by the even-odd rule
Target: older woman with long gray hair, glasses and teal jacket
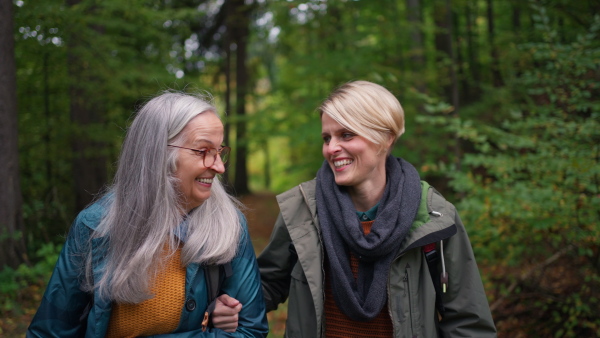
[[[166,92],[148,101],[112,186],[73,223],[27,337],[266,336],[246,221],[217,176],[230,151],[222,143],[205,99]],[[209,266],[227,270],[219,284]],[[230,303],[236,325],[210,324],[222,306],[211,300],[215,285],[239,301]]]

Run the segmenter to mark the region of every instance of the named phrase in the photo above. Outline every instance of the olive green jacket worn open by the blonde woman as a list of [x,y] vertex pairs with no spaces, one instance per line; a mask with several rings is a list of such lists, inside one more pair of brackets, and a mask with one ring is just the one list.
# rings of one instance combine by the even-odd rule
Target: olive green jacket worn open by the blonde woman
[[[471,243],[456,209],[426,182],[421,186],[417,217],[398,244],[388,277],[394,336],[496,337]],[[281,212],[270,243],[258,257],[267,311],[289,296],[286,337],[322,337],[325,332],[324,247],[315,189],[312,180],[277,196]],[[449,282],[443,294],[445,312],[438,321],[422,246],[440,241]]]

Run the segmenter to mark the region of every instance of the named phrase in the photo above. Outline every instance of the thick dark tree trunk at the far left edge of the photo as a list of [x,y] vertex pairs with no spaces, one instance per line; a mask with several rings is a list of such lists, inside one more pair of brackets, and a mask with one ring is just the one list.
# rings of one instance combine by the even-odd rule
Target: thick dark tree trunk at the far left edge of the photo
[[0,0],[0,269],[27,261],[17,131],[13,2]]

